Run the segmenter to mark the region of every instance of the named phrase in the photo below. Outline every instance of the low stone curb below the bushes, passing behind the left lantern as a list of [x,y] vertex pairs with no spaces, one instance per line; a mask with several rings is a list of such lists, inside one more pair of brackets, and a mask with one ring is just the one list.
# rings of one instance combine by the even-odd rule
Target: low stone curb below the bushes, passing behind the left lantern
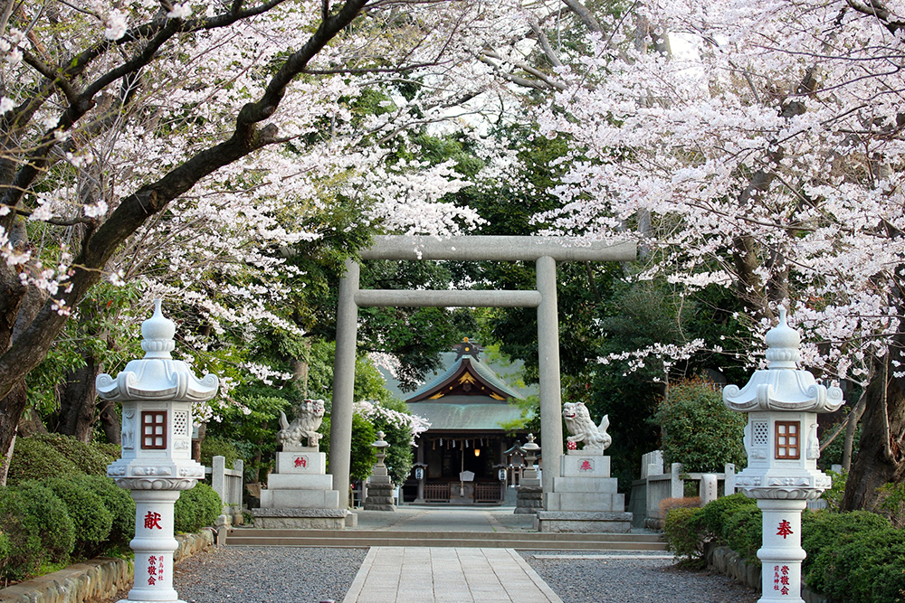
[[[173,561],[191,557],[214,544],[214,531],[177,534]],[[101,557],[75,563],[35,579],[0,589],[0,603],[85,603],[110,598],[132,584],[132,561]]]

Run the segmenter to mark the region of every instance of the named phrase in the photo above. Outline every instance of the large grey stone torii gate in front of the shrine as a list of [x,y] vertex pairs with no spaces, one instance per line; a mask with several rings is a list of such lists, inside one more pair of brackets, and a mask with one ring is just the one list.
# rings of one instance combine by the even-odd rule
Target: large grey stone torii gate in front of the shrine
[[358,308],[393,307],[536,307],[540,373],[540,429],[544,442],[545,492],[552,492],[553,477],[563,456],[562,399],[559,381],[559,319],[557,315],[557,261],[632,261],[634,242],[615,244],[559,237],[452,237],[436,239],[388,235],[375,237],[362,259],[452,259],[457,261],[533,261],[537,265],[535,290],[429,291],[359,289],[359,267],[347,260],[346,276],[339,283],[337,351],[333,371],[333,410],[330,416],[330,473],[333,487],[348,493],[352,442],[352,403],[355,382]]

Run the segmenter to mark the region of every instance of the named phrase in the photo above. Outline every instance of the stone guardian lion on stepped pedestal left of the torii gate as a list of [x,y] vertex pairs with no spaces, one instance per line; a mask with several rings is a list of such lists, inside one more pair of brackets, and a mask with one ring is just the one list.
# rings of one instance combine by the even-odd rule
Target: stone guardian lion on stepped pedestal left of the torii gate
[[320,452],[318,428],[323,419],[323,400],[302,400],[291,423],[280,413],[277,442],[282,450],[277,452],[276,471],[261,491],[261,508],[252,509],[254,527],[340,530],[348,520],[354,521],[347,520],[346,501],[333,489],[327,454]]

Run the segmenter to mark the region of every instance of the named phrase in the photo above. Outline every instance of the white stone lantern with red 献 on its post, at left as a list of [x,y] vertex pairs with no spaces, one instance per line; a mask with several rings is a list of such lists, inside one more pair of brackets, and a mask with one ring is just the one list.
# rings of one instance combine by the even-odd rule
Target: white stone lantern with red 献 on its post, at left
[[[141,325],[145,357],[133,360],[114,379],[97,378],[100,398],[122,402],[122,457],[107,467],[117,485],[135,499],[135,582],[126,601],[177,601],[173,589],[173,505],[183,490],[205,477],[191,457],[192,402],[210,400],[216,375],[198,380],[174,360],[176,325],[160,312]],[[123,602],[123,603],[124,603]]]

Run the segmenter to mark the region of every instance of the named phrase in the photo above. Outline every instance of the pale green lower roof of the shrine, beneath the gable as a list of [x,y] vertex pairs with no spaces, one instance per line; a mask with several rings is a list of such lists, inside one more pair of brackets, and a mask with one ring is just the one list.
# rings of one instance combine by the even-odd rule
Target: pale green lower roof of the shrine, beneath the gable
[[502,431],[500,424],[521,419],[521,410],[515,405],[474,400],[474,396],[449,396],[448,400],[443,401],[412,402],[409,408],[414,414],[430,421],[428,433],[453,429]]

